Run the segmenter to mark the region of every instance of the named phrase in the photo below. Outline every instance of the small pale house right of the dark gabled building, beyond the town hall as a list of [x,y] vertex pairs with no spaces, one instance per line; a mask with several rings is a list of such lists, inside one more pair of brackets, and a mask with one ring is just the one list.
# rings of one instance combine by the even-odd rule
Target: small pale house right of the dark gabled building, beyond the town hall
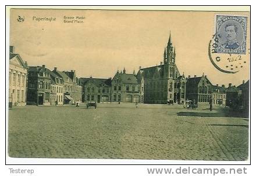
[[212,104],[226,105],[226,88],[225,85],[212,86]]

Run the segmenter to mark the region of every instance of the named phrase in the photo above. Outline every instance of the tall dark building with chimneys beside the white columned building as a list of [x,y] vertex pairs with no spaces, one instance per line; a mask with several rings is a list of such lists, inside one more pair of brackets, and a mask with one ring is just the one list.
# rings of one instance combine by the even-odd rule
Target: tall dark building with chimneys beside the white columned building
[[51,71],[45,65],[29,67],[27,104],[50,105]]

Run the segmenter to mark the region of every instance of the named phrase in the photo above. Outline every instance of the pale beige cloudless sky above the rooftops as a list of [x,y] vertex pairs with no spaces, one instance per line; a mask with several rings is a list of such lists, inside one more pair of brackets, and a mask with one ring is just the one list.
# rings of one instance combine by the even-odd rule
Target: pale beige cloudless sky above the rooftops
[[[216,14],[247,16],[250,21],[248,12],[12,9],[10,45],[29,66],[44,64],[51,70],[75,70],[78,77],[113,78],[124,67],[127,73],[137,73],[140,66],[159,65],[170,34],[180,74],[204,73],[214,85],[238,86],[250,77],[250,23],[246,54],[241,55],[243,68],[226,74],[208,56]],[[17,21],[19,16],[23,22]],[[84,17],[83,23],[64,23],[65,17],[76,16]],[[44,17],[56,20],[35,20]],[[230,64],[227,54],[217,56],[222,68]]]

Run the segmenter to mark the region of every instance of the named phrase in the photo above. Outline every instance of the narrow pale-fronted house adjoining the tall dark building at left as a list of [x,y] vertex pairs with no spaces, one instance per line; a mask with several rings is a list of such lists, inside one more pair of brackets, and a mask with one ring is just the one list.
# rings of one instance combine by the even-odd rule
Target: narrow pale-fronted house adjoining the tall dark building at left
[[54,72],[50,73],[51,76],[51,96],[50,103],[51,105],[63,105],[64,100],[64,82],[61,77],[54,74]]

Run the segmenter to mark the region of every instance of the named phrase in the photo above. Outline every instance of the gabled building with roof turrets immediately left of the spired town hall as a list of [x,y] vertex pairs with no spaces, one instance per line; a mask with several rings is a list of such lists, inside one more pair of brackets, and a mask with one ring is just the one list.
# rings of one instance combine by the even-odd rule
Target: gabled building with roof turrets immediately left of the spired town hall
[[126,69],[116,72],[112,79],[112,101],[113,102],[137,102],[143,103],[144,79],[143,76],[126,74]]

